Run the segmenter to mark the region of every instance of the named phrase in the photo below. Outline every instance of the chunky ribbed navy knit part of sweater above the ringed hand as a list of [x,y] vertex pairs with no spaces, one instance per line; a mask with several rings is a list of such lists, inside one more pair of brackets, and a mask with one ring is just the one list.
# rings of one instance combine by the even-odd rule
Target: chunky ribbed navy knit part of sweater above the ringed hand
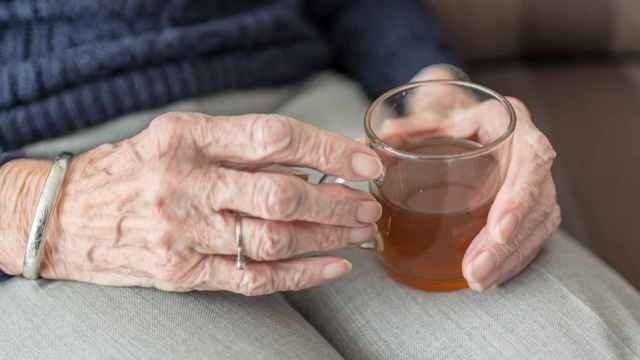
[[297,1],[0,1],[0,148],[304,79],[331,53]]

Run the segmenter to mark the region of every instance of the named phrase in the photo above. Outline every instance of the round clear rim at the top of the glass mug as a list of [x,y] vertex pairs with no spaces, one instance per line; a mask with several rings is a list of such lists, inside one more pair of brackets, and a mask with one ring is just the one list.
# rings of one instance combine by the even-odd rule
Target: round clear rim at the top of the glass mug
[[[429,85],[429,84],[444,84],[444,85],[459,85],[465,88],[471,88],[474,90],[478,90],[481,91],[485,94],[488,94],[490,96],[492,96],[495,100],[499,101],[503,108],[507,111],[507,114],[509,116],[509,124],[507,125],[507,128],[505,130],[505,132],[500,135],[496,140],[494,140],[493,142],[486,144],[486,145],[482,145],[481,147],[474,149],[474,150],[470,150],[470,151],[465,151],[462,153],[457,153],[457,154],[448,154],[448,155],[419,155],[419,154],[413,154],[407,151],[403,151],[403,150],[399,150],[396,149],[394,146],[391,146],[389,144],[387,144],[384,140],[380,139],[378,137],[378,135],[376,134],[376,132],[371,128],[371,117],[372,114],[374,112],[375,109],[378,108],[378,106],[385,100],[387,100],[389,97],[391,97],[392,95],[398,94],[399,92],[408,90],[408,89],[414,89],[417,88],[419,86],[424,86],[424,85]],[[364,131],[365,134],[367,135],[367,139],[373,144],[376,145],[378,147],[381,147],[382,149],[384,149],[387,152],[390,152],[391,154],[398,156],[398,157],[403,157],[403,158],[409,158],[409,159],[415,159],[415,160],[454,160],[454,159],[467,159],[467,158],[473,158],[473,157],[477,157],[477,156],[481,156],[481,155],[485,155],[487,153],[490,153],[491,151],[493,151],[496,147],[500,146],[502,143],[504,143],[507,139],[509,139],[512,135],[513,132],[515,131],[516,128],[516,112],[513,109],[513,106],[511,105],[511,103],[501,94],[499,94],[498,92],[489,89],[488,87],[482,86],[482,85],[478,85],[476,83],[472,83],[469,81],[461,81],[461,80],[422,80],[422,81],[412,81],[409,83],[406,83],[404,85],[400,85],[400,86],[396,86],[390,90],[387,90],[386,92],[384,92],[382,95],[380,95],[377,99],[375,99],[373,101],[373,103],[371,103],[371,105],[369,105],[369,107],[367,108],[367,112],[364,115]]]

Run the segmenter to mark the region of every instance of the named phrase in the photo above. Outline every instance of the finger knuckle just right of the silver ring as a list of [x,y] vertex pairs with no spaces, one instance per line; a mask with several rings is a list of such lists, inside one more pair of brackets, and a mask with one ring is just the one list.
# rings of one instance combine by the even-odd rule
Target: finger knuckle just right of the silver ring
[[292,234],[289,226],[265,221],[259,226],[257,240],[256,260],[279,260],[293,255]]

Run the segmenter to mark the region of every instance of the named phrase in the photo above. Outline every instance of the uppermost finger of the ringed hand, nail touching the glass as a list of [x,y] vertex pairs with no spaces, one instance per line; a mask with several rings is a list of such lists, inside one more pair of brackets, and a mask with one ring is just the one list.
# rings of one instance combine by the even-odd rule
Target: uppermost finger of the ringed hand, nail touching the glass
[[164,116],[216,161],[304,166],[349,180],[373,179],[382,173],[380,159],[366,145],[286,116]]

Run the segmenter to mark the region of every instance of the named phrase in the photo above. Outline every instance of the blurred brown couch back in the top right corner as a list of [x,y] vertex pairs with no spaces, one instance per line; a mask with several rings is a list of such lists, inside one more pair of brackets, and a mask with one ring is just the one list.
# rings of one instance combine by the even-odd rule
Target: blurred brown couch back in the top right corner
[[640,54],[640,0],[425,0],[467,60]]

